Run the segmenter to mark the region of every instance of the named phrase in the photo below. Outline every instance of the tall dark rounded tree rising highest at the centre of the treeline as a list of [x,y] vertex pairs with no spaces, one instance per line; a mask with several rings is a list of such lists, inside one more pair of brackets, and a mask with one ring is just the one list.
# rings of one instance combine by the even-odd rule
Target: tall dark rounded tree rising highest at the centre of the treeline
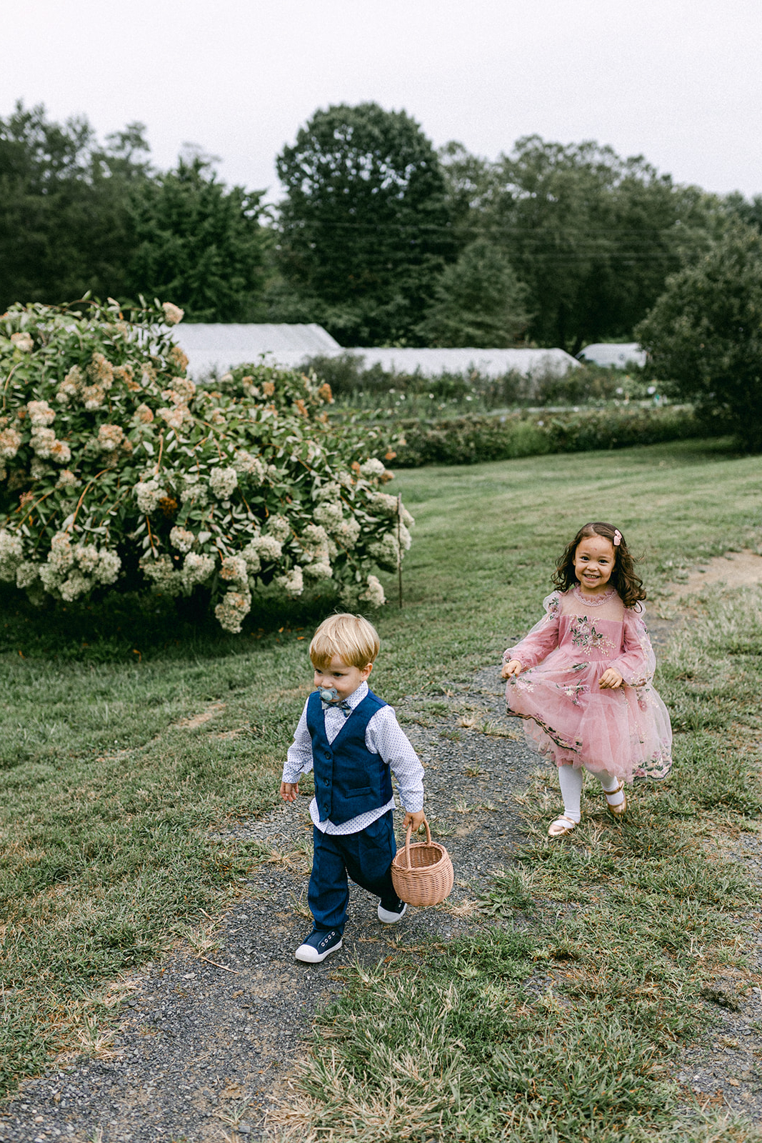
[[415,339],[455,256],[436,153],[404,111],[316,111],[278,158],[279,261],[343,344]]

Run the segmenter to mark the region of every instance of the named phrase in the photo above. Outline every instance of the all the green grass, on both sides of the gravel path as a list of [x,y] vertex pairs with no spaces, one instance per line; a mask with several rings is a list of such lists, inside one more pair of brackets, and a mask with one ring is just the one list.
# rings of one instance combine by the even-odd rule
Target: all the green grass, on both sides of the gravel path
[[[406,693],[457,682],[471,668],[498,656],[510,639],[539,616],[553,561],[587,519],[609,519],[621,528],[631,549],[644,555],[647,586],[657,591],[668,565],[729,547],[756,547],[762,539],[759,459],[735,457],[717,441],[425,469],[400,473],[393,487],[402,491],[417,526],[404,565],[404,609],[399,612],[393,602],[377,620],[383,652],[375,686],[392,702]],[[394,601],[393,577],[388,577],[387,591]],[[319,608],[315,614],[294,610],[281,631],[272,621],[260,620],[266,630],[223,637],[211,629],[193,631],[177,624],[161,606],[129,612],[114,605],[57,616],[35,616],[24,607],[6,606],[0,621],[5,696],[0,968],[6,1012],[0,1022],[0,1084],[11,1087],[14,1077],[41,1066],[46,1055],[70,1041],[78,1026],[102,1016],[102,989],[109,978],[157,956],[178,937],[192,935],[194,925],[206,919],[202,910],[218,909],[225,894],[236,892],[238,879],[257,855],[246,846],[209,840],[208,828],[227,815],[256,813],[273,804],[281,759],[310,688],[305,648],[310,628],[321,617]],[[692,901],[696,886],[706,882],[705,895],[714,897],[705,902],[709,919],[699,935],[705,944],[716,944],[725,959],[735,956],[725,945],[729,922],[713,880],[725,876],[724,866],[715,862],[709,869],[700,849],[690,846],[696,826],[685,821],[696,815],[701,829],[723,828],[759,808],[754,790],[733,799],[737,772],[747,761],[738,750],[720,746],[728,742],[729,730],[731,745],[741,742],[743,725],[754,720],[761,628],[757,622],[749,633],[736,613],[725,616],[721,626],[709,620],[700,630],[696,626],[693,641],[675,650],[660,682],[675,724],[684,732],[676,784],[653,794],[652,804],[643,809],[648,821],[641,823],[640,832],[624,831],[624,841],[617,842],[625,846],[621,853],[605,853],[602,844],[591,848],[579,831],[580,852],[587,847],[593,854],[586,865],[581,862],[584,877],[570,879],[568,869],[558,868],[559,858],[548,856],[538,831],[522,860],[521,900],[528,893],[539,901],[555,893],[559,900],[560,892],[560,900],[578,905],[584,902],[575,897],[575,890],[583,897],[592,893],[607,898],[613,917],[610,886],[600,888],[612,868],[620,866],[616,880],[631,903],[633,897],[648,898],[657,910],[665,900]],[[736,650],[725,646],[725,629],[736,632]],[[724,664],[719,671],[717,661]],[[191,728],[183,725],[204,712],[207,721]],[[715,737],[721,734],[724,737]],[[701,796],[685,777],[689,760],[701,775]],[[643,842],[645,836],[651,839],[650,850]],[[577,853],[577,845],[567,852]],[[682,896],[663,868],[673,857],[683,870]],[[641,884],[643,878],[645,884]],[[508,889],[514,885],[511,878],[505,884]],[[506,910],[518,900],[508,889],[504,886]],[[746,893],[743,887],[728,890],[725,905],[743,904]],[[540,914],[543,908],[538,905]],[[680,914],[677,921],[672,925],[673,934],[685,932],[685,917]],[[610,917],[595,929],[575,920],[570,940],[583,960],[591,945],[616,948],[607,924],[613,924]],[[504,938],[495,940],[499,944]],[[524,944],[512,940],[510,948],[487,953],[464,948],[458,953],[466,966],[460,976],[483,988],[495,977],[497,958],[496,964],[514,966],[498,973],[507,986],[534,970],[538,948],[546,949],[546,956],[559,948],[558,934],[550,928],[538,929]],[[653,1098],[643,1077],[647,1063],[650,1068],[668,1055],[668,1046],[696,1023],[690,1005],[683,1012],[675,999],[682,996],[689,968],[695,969],[695,961],[684,962],[683,944],[677,942],[669,953],[674,970],[659,970],[652,983],[661,1007],[647,1010],[648,1001],[643,1001],[635,1029],[640,1046],[632,1056],[640,1077],[633,1084],[642,1094],[631,1100],[632,1108],[619,1108],[616,1122],[624,1126],[617,1127],[618,1134],[608,1128],[608,1134],[601,1133],[593,1111],[583,1106],[591,1094],[583,1100],[580,1076],[573,1116],[559,1127],[559,1140],[624,1143],[625,1138],[668,1137],[639,1135],[627,1125],[628,1117],[636,1116],[643,1120],[643,1130],[656,1130],[660,1124],[658,1130],[667,1132],[663,1112],[658,1119],[649,1110]],[[446,986],[440,977],[440,969],[432,967],[426,1004],[432,1005],[431,998],[438,994],[431,989]],[[585,1052],[592,1050],[596,1036],[600,1047],[602,1034],[613,1034],[611,996],[623,994],[618,981],[611,985],[613,993],[601,985],[593,997],[583,974],[578,994],[573,989],[570,993],[581,1021],[569,1024],[570,1036],[586,1021],[599,1021]],[[351,994],[360,1018],[364,1009],[358,997],[364,994],[366,1015],[377,1020],[371,993],[363,992],[362,982],[355,985]],[[473,997],[464,992],[463,1000],[471,1005]],[[657,1026],[660,1012],[663,1028]],[[500,1044],[516,1038],[519,1042],[526,1036],[537,1046],[540,1016],[527,1009],[524,1017],[523,1031],[505,1025]],[[398,1031],[390,1031],[390,1053],[396,1050]],[[463,1034],[454,1031],[456,1039]],[[482,1044],[480,1034],[475,1044]],[[554,1061],[569,1052],[561,1041],[545,1055],[540,1048],[535,1057],[540,1070],[553,1069]],[[346,1058],[339,1053],[337,1068],[361,1068],[353,1050],[347,1047]],[[451,1050],[452,1045],[442,1046],[446,1054]],[[625,1046],[625,1050],[631,1049]],[[616,1071],[617,1052],[609,1053],[604,1077]],[[503,1072],[496,1072],[498,1086],[513,1074],[515,1062],[505,1062],[505,1053],[504,1057]],[[438,1056],[431,1074],[443,1074],[446,1065],[444,1056]],[[460,1065],[475,1077],[488,1066],[478,1056],[462,1060]],[[516,1089],[523,1090],[521,1084]],[[531,1092],[531,1085],[527,1090]],[[527,1111],[531,1102],[527,1097],[512,1104],[514,1110],[520,1106],[527,1124],[527,1133],[515,1138],[550,1138],[547,1125]],[[665,1105],[661,1095],[657,1102],[659,1108]],[[478,1112],[479,1108],[472,1117],[476,1124],[483,1109]],[[489,1120],[495,1132],[500,1116],[505,1120],[505,1109],[492,1106],[490,1114],[498,1117]],[[462,1117],[459,1122],[466,1120]],[[587,1134],[573,1135],[583,1122]],[[422,1129],[428,1126],[423,1122]],[[513,1124],[511,1130],[515,1129]],[[368,1140],[385,1137],[367,1135]],[[472,1134],[446,1137],[500,1136],[478,1134],[474,1127]]]

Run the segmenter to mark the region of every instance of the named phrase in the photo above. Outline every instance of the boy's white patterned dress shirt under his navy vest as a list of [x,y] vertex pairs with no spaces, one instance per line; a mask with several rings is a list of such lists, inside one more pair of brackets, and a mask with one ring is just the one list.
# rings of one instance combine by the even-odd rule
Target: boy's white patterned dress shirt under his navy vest
[[[368,684],[361,682],[346,700],[352,710],[362,702],[367,694]],[[346,717],[338,708],[329,706],[326,710],[326,737],[329,742],[334,741],[345,721]],[[366,728],[366,746],[372,754],[380,754],[383,761],[392,768],[403,809],[410,814],[423,809],[424,768],[391,706],[382,706],[369,720]],[[312,738],[307,730],[307,703],[305,703],[294,734],[294,742],[288,748],[283,766],[283,782],[298,782],[300,775],[308,774],[312,767]],[[348,822],[336,825],[330,818],[326,822],[320,821],[315,798],[310,802],[310,816],[313,824],[322,833],[359,833],[360,830],[367,829],[372,822],[383,817],[390,809],[394,809],[394,798],[385,806],[379,806],[378,809],[369,809],[364,814],[358,814],[356,817],[350,818]]]

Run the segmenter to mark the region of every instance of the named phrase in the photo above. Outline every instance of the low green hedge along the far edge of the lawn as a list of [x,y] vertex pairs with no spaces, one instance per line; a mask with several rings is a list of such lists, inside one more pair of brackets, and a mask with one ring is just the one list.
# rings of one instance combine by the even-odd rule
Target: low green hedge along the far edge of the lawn
[[691,406],[628,406],[554,414],[508,413],[447,421],[401,421],[395,467],[478,464],[546,453],[656,445],[707,435]]

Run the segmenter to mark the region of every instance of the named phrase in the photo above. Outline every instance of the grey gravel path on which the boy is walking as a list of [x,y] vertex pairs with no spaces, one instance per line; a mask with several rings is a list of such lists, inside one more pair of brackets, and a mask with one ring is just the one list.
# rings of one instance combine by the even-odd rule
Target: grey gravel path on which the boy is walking
[[[665,626],[659,641],[666,634]],[[498,670],[490,668],[474,676],[468,692],[412,696],[398,708],[426,767],[427,816],[455,865],[456,885],[444,905],[409,908],[399,926],[387,928],[376,919],[376,900],[353,887],[344,948],[323,965],[300,965],[294,949],[311,927],[308,798],[265,820],[233,824],[231,834],[272,847],[272,860],[257,866],[236,904],[210,926],[208,946],[181,950],[135,978],[110,1047],[24,1084],[0,1109],[0,1141],[262,1138],[280,1077],[315,1009],[340,986],[337,964],[356,958],[375,965],[398,942],[409,948],[432,936],[448,940],[482,922],[473,903],[521,841],[513,796],[536,767],[520,728],[505,736],[502,694]],[[762,842],[743,836],[740,845],[739,860],[762,878]],[[759,920],[749,918],[757,941]],[[762,993],[717,981],[706,1004],[721,1015],[721,1026],[685,1054],[679,1079],[701,1102],[762,1118],[755,1056]]]

